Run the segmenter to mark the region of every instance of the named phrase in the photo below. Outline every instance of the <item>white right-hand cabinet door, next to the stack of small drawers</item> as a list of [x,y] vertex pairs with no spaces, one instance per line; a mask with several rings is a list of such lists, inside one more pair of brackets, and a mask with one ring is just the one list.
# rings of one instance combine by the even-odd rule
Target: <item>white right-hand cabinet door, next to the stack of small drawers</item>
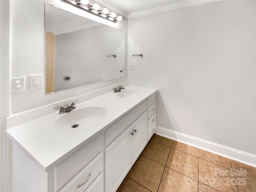
[[147,112],[144,112],[132,124],[132,164],[136,161],[148,141],[148,119]]

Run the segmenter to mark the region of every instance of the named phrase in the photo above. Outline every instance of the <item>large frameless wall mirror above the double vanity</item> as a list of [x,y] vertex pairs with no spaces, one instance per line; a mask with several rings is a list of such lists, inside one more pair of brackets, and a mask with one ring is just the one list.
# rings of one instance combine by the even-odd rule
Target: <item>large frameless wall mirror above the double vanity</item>
[[124,77],[125,32],[45,4],[46,94]]

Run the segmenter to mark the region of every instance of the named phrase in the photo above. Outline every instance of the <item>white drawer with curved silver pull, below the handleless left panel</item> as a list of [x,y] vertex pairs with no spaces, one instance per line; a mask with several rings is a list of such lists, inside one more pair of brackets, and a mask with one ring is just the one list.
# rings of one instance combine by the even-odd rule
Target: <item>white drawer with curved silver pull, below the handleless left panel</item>
[[[102,172],[102,152],[76,174],[59,192],[84,192],[92,181]],[[102,184],[103,185],[103,182]]]

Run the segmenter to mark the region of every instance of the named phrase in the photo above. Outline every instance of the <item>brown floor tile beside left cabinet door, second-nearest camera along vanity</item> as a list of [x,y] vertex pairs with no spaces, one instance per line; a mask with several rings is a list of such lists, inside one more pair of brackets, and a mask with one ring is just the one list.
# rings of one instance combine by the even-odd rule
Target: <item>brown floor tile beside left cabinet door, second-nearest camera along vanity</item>
[[144,156],[139,156],[128,173],[128,177],[148,190],[157,192],[163,172],[164,166]]

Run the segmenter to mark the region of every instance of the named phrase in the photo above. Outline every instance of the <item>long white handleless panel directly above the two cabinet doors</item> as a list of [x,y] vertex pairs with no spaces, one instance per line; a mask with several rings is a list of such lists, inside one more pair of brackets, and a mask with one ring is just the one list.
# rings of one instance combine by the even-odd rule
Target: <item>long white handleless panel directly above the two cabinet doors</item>
[[105,146],[108,146],[118,135],[132,124],[142,113],[147,110],[147,101],[140,104],[126,116],[114,123],[105,131]]

